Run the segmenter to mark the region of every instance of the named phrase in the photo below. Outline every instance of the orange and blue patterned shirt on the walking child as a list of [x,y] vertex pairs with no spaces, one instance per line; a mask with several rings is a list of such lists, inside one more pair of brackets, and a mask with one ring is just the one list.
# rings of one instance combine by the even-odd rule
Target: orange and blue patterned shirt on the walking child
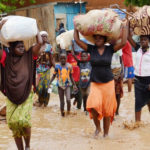
[[57,75],[57,86],[61,88],[71,86],[70,74],[72,74],[72,66],[69,63],[65,66],[56,64],[54,75]]

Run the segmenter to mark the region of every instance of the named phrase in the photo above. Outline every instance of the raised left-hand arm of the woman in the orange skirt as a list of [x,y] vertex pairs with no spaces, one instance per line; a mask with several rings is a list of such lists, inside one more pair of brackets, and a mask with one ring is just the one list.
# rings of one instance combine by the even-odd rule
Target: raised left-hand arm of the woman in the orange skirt
[[79,38],[79,31],[77,29],[74,29],[74,39],[76,43],[85,51],[87,51],[88,45],[84,43],[82,40]]

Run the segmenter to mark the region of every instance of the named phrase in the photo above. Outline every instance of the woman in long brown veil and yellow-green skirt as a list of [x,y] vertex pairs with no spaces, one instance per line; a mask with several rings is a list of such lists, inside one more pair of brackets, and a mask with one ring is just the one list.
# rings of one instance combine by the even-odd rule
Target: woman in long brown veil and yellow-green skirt
[[[5,23],[0,22],[0,29]],[[6,95],[6,118],[13,132],[18,150],[30,149],[31,111],[33,97],[33,56],[37,56],[41,48],[42,38],[38,33],[37,44],[28,51],[23,41],[9,43],[9,52],[0,51],[0,60],[4,69],[3,93]]]

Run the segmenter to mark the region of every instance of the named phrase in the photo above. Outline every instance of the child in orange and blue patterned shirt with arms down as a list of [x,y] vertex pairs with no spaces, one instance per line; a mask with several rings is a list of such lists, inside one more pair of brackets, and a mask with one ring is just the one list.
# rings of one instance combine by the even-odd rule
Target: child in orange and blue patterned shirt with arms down
[[[60,111],[61,115],[64,117],[64,95],[66,96],[67,101],[67,113],[70,113],[71,102],[70,102],[70,87],[73,84],[74,90],[77,90],[75,82],[72,77],[72,66],[66,62],[67,61],[67,53],[65,50],[60,52],[60,63],[56,64],[55,71],[53,77],[50,81],[50,85],[57,76],[57,86],[58,86],[58,94],[60,99]],[[72,83],[71,83],[72,82]]]

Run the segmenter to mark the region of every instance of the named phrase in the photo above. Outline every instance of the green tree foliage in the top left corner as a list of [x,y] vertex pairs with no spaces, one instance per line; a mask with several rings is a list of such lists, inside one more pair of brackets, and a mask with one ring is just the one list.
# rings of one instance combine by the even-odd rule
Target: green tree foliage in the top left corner
[[[16,9],[16,4],[24,5],[25,1],[26,0],[0,0],[0,14]],[[35,2],[35,0],[30,0],[30,3]]]

